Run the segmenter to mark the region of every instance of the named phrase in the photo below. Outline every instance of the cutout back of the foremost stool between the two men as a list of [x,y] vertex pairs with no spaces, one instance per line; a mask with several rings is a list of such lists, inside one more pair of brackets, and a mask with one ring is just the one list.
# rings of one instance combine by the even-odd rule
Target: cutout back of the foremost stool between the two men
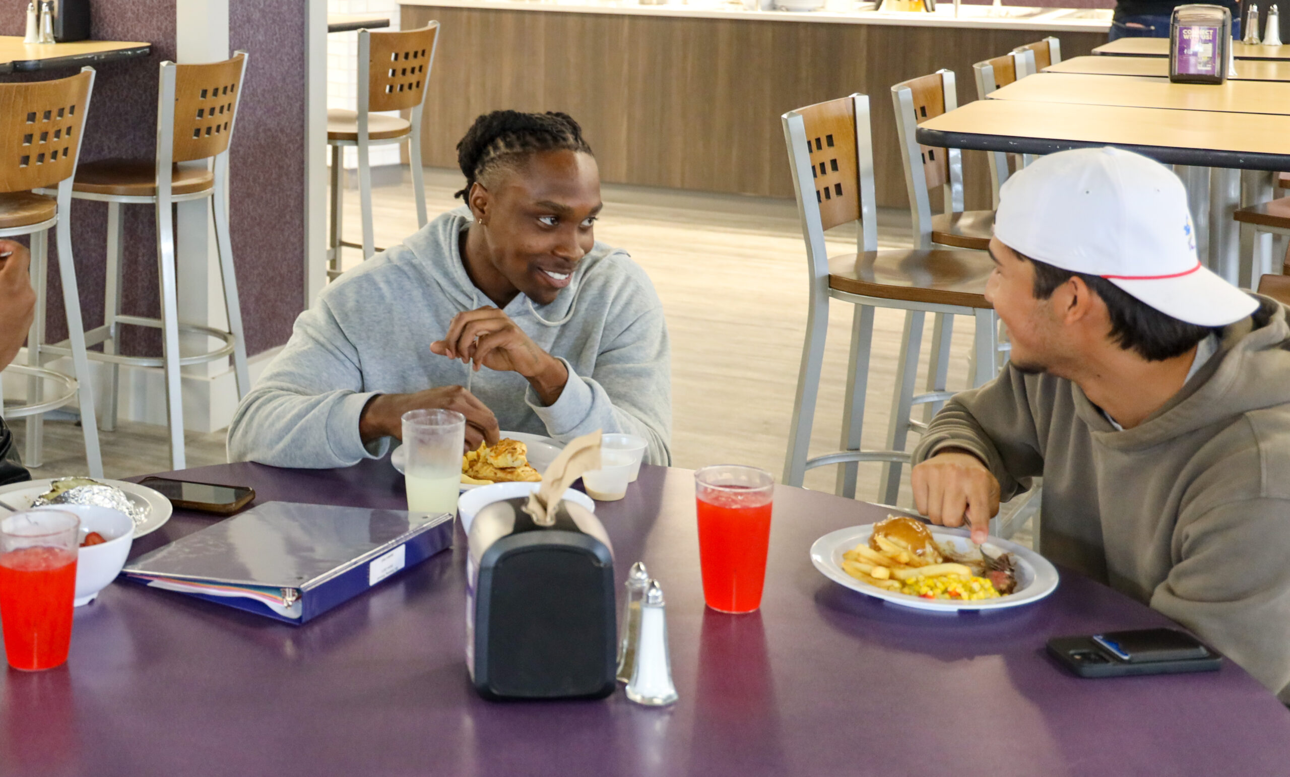
[[857,250],[877,250],[869,98],[815,103],[782,121],[808,258],[817,278],[827,276],[826,230],[859,222]]

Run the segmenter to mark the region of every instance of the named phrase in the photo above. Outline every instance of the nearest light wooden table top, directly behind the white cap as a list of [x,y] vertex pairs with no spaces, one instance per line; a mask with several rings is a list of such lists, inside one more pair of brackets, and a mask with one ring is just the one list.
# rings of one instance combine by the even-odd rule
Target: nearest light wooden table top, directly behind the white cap
[[1120,146],[1164,164],[1290,169],[1290,116],[978,99],[918,125],[918,142],[1015,154]]

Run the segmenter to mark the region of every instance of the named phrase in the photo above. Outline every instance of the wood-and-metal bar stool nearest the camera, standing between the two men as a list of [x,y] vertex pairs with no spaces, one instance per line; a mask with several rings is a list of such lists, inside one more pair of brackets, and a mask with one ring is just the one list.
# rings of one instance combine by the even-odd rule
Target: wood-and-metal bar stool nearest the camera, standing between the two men
[[[880,501],[890,505],[899,492],[900,465],[909,461],[909,454],[904,452],[907,434],[926,429],[925,423],[909,418],[912,405],[939,404],[952,395],[944,390],[913,394],[925,314],[973,316],[977,320],[974,350],[978,354],[973,385],[979,386],[995,376],[996,316],[983,296],[993,263],[988,256],[974,250],[877,250],[873,145],[867,96],[851,94],[789,111],[782,120],[810,272],[806,341],[793,399],[783,481],[801,485],[808,469],[842,465],[836,492],[854,497],[857,463],[888,462]],[[859,226],[857,253],[829,258],[824,231],[850,222]],[[855,306],[841,450],[808,458],[831,298]],[[908,312],[897,368],[888,449],[864,450],[860,449],[860,431],[876,307]],[[933,343],[933,350],[938,355],[948,355],[948,346],[947,328],[943,339]],[[944,379],[943,374],[939,379]]]

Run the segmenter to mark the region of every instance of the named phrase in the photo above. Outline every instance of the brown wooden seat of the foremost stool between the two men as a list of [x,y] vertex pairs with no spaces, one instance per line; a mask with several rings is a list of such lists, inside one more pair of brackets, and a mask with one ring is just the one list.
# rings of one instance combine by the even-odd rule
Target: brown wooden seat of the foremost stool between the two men
[[828,259],[828,287],[880,299],[989,308],[995,262],[975,250],[869,250]]

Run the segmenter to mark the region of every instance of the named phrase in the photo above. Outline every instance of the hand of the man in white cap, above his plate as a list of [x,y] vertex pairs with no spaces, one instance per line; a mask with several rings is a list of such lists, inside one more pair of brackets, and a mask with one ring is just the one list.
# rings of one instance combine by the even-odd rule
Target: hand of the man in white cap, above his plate
[[971,523],[971,541],[989,534],[989,519],[998,514],[998,480],[980,459],[962,450],[943,450],[913,467],[913,503],[931,523],[961,527]]

